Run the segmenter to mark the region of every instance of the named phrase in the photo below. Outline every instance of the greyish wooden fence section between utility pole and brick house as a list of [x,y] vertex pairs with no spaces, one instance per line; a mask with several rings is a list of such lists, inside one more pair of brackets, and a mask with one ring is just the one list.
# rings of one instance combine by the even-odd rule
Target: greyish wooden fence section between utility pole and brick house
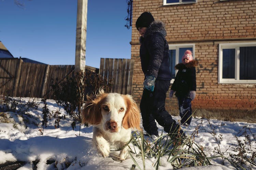
[[111,92],[120,94],[132,93],[134,60],[120,58],[101,58],[99,74],[113,81]]

